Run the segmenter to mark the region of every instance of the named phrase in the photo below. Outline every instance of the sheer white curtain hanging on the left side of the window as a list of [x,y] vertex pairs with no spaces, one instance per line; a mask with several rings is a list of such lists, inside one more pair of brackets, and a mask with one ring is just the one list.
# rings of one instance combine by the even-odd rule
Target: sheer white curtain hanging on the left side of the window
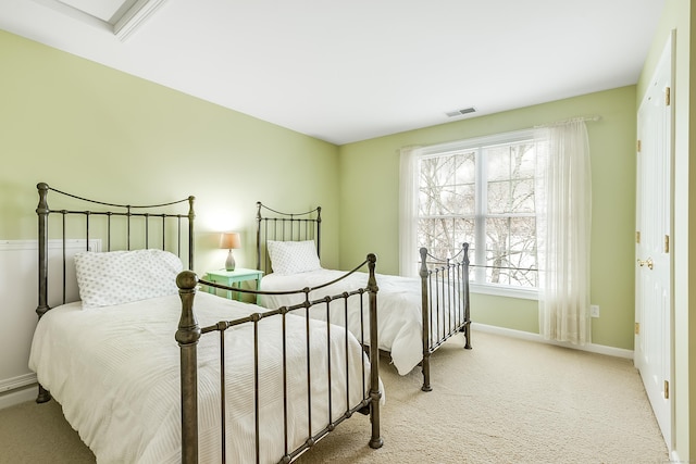
[[419,147],[400,150],[399,180],[399,274],[417,276],[418,263],[418,153]]

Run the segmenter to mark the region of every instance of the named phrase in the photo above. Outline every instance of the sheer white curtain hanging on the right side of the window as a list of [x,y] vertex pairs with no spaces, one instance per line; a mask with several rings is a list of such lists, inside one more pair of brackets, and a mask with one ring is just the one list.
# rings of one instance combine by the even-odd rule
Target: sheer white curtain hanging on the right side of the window
[[539,331],[548,340],[589,342],[592,178],[584,120],[536,134]]

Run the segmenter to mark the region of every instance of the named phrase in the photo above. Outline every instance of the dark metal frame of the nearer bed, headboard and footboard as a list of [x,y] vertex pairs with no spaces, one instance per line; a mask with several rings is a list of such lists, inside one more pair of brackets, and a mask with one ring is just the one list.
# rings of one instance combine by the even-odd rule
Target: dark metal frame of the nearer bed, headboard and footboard
[[[154,204],[154,205],[123,205],[123,204],[114,204],[114,203],[105,203],[101,201],[89,200],[86,198],[77,197],[71,193],[66,193],[64,191],[51,188],[46,183],[40,183],[37,185],[38,195],[39,195],[39,203],[36,210],[38,215],[38,241],[39,241],[39,253],[38,253],[38,269],[39,269],[39,291],[38,291],[38,306],[36,309],[36,313],[39,318],[51,310],[51,306],[48,303],[48,287],[49,287],[49,223],[53,223],[50,221],[49,216],[60,216],[60,227],[58,227],[58,231],[53,233],[54,236],[60,236],[63,242],[62,247],[62,285],[63,285],[63,300],[62,304],[66,303],[65,297],[65,287],[66,287],[66,240],[67,235],[77,234],[79,238],[86,237],[86,248],[89,250],[90,238],[99,238],[105,240],[107,250],[112,251],[117,249],[126,249],[130,250],[132,246],[136,248],[159,248],[162,250],[167,250],[177,254],[182,258],[182,254],[185,252],[187,255],[188,268],[192,269],[194,267],[194,202],[195,197],[188,197],[184,200],[173,201],[169,203]],[[91,210],[52,210],[49,208],[48,203],[48,193],[49,191],[53,191],[55,193],[61,193],[65,198],[61,198],[61,200],[66,200],[67,203],[76,203],[84,204],[88,203],[92,208]],[[163,212],[167,208],[181,208],[182,204],[188,204],[187,214],[176,214],[170,212]],[[151,211],[156,212],[151,212]],[[71,216],[79,216],[84,218],[82,224],[77,224],[74,226],[72,223],[69,224],[69,217]],[[104,224],[100,224],[101,228],[95,227],[96,220],[102,220],[105,222]],[[125,221],[125,225],[119,223],[117,218],[121,221]],[[158,226],[152,226],[153,223],[161,223],[161,239],[153,247],[152,242],[157,241],[152,236],[152,229],[157,229]],[[169,225],[171,223],[171,226]],[[187,223],[183,226],[183,223]],[[121,227],[121,228],[119,228]],[[167,228],[169,227],[169,228]],[[94,231],[94,228],[97,228],[97,231]],[[125,228],[125,231],[122,229]],[[51,229],[51,231],[53,231]],[[174,236],[173,239],[170,239],[171,236]],[[112,239],[117,236],[117,239]],[[125,240],[125,246],[120,247],[114,244],[112,248],[112,243],[117,242],[119,240]],[[123,244],[123,241],[120,242]],[[376,258],[374,254],[369,254],[368,259],[357,266],[352,272],[347,275],[357,272],[363,266],[368,266],[370,273],[370,280],[368,286],[364,288],[355,289],[350,292],[344,292],[339,296],[326,297],[316,301],[309,301],[306,297],[304,302],[291,308],[279,308],[274,311],[266,312],[257,312],[251,313],[247,317],[236,319],[236,321],[221,321],[215,325],[208,327],[200,327],[196,319],[195,311],[194,311],[194,300],[197,289],[200,285],[211,286],[223,290],[235,290],[247,292],[251,294],[263,293],[254,290],[247,289],[238,289],[231,288],[220,284],[210,283],[206,280],[199,280],[197,275],[192,271],[184,271],[182,272],[176,279],[176,284],[179,288],[179,296],[182,299],[182,314],[179,318],[178,329],[176,330],[174,338],[178,342],[181,349],[181,406],[182,406],[182,462],[183,463],[197,463],[198,462],[198,378],[197,378],[197,344],[201,337],[211,334],[217,334],[221,340],[221,374],[220,374],[220,384],[221,384],[221,416],[225,417],[225,373],[224,373],[224,333],[228,328],[249,324],[254,328],[257,327],[259,321],[266,317],[283,317],[293,310],[297,310],[299,308],[304,308],[309,310],[314,305],[325,304],[328,311],[328,303],[333,300],[348,299],[348,298],[360,298],[363,300],[363,293],[368,293],[369,301],[369,314],[370,319],[373,324],[372,327],[376,327],[376,293],[377,293],[377,285],[375,279],[375,263]],[[318,288],[332,285],[334,283],[327,283]],[[298,291],[289,291],[284,293],[304,293],[309,294],[309,291],[313,289],[302,289]],[[268,293],[268,292],[266,292]],[[283,319],[284,322],[285,319]],[[283,324],[285,327],[285,324]],[[328,323],[326,323],[326,330],[328,330]],[[307,325],[307,330],[309,334],[309,324]],[[173,328],[174,333],[174,328]],[[347,329],[346,329],[347,333]],[[307,336],[309,339],[309,335]],[[347,335],[346,335],[347,340]],[[373,347],[377,346],[377,333],[375,330],[370,331],[370,344]],[[364,340],[359,340],[363,346],[365,346]],[[346,341],[347,343],[347,341]],[[254,339],[254,385],[256,385],[256,455],[257,462],[259,462],[259,383],[258,383],[258,368],[259,368],[259,358],[258,358],[258,347],[259,340]],[[308,350],[309,350],[309,341],[308,341]],[[311,353],[308,351],[308,358]],[[370,356],[370,372],[365,373],[363,368],[362,374],[362,390],[365,394],[362,394],[362,400],[357,404],[346,404],[345,412],[340,415],[340,417],[336,421],[328,418],[328,425],[321,429],[318,434],[312,435],[311,430],[311,403],[308,400],[307,407],[309,411],[309,427],[308,435],[304,442],[297,449],[289,449],[288,446],[288,421],[287,421],[287,407],[284,411],[285,417],[285,453],[283,456],[279,456],[278,463],[289,463],[297,459],[304,451],[314,446],[321,438],[332,431],[336,425],[340,424],[346,418],[350,417],[355,412],[360,412],[362,414],[369,414],[371,416],[371,427],[372,435],[369,441],[369,446],[373,449],[381,448],[383,444],[383,439],[380,435],[380,401],[382,398],[382,391],[380,390],[380,365],[378,365],[378,352],[376,350],[372,350],[369,353]],[[346,368],[347,366],[347,358],[346,358]],[[282,364],[285,368],[286,358],[285,351],[283,353]],[[328,366],[331,372],[331,366]],[[347,373],[346,373],[347,374]],[[285,371],[283,373],[284,378],[284,392],[287,392],[285,385]],[[308,373],[308,385],[310,383],[310,377]],[[331,383],[331,374],[328,375],[328,381]],[[369,385],[369,389],[366,389],[366,385]],[[331,392],[331,388],[330,388]],[[38,396],[37,402],[44,403],[51,399],[50,392],[45,389],[41,385],[38,386]],[[330,399],[331,402],[331,393]],[[285,396],[285,402],[287,403],[287,396]],[[348,403],[348,401],[346,401]],[[330,406],[331,414],[331,406]],[[223,462],[225,461],[225,422],[222,422],[221,434],[223,439],[222,442],[222,456]]]

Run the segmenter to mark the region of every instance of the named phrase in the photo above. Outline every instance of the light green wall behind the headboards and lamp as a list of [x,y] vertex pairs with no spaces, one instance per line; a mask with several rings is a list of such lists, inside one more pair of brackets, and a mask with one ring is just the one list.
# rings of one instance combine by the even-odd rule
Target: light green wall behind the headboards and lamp
[[0,32],[0,240],[36,238],[36,184],[120,203],[197,198],[196,271],[223,266],[217,231],[256,266],[256,202],[325,206],[338,264],[338,149]]

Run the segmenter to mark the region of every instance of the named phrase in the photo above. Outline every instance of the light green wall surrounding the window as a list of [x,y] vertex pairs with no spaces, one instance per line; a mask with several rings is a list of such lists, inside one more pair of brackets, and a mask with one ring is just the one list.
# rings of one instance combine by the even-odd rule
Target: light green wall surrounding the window
[[[489,116],[396,134],[339,148],[340,263],[377,254],[382,273],[398,273],[399,149],[534,127],[575,116],[588,122],[593,176],[593,342],[633,349],[635,233],[635,86]],[[472,296],[472,319],[538,333],[534,300]]]

